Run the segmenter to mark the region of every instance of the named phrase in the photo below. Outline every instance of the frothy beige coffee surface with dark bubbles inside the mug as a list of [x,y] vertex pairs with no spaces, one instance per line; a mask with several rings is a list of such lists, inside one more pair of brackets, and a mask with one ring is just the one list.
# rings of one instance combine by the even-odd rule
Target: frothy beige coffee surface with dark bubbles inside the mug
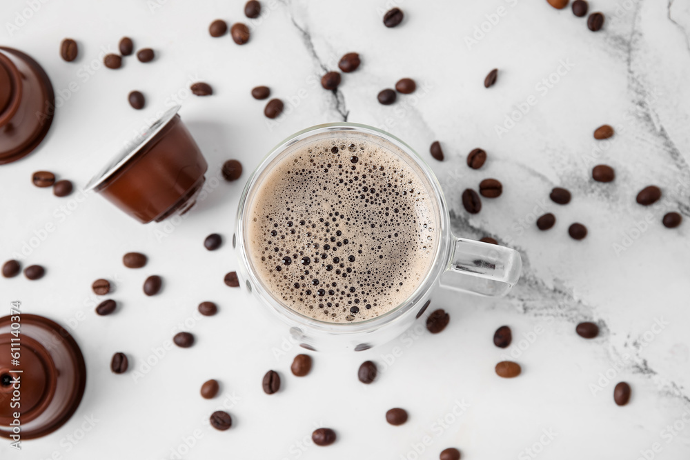
[[390,149],[339,134],[271,166],[247,233],[250,260],[275,299],[342,323],[388,312],[420,285],[438,241],[435,202]]

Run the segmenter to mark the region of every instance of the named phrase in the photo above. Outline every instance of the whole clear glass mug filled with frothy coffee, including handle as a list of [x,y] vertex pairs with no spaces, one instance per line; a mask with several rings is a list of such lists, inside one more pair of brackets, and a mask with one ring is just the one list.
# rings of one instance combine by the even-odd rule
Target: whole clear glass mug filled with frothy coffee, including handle
[[[290,181],[297,186],[279,189]],[[326,195],[327,183],[339,191]],[[398,202],[408,203],[406,217]],[[394,230],[386,234],[386,226]],[[423,317],[440,286],[506,294],[522,266],[515,250],[455,237],[431,168],[397,137],[357,123],[308,128],[264,158],[239,201],[233,248],[240,286],[296,343],[319,351],[362,351],[390,341]]]

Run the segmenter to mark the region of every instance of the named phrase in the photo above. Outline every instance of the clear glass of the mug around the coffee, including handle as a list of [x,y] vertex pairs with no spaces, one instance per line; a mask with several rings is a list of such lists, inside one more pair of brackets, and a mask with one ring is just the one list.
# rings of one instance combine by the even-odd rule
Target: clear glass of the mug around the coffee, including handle
[[[351,323],[332,323],[306,317],[273,296],[255,272],[247,252],[248,214],[257,190],[272,166],[295,149],[328,137],[366,137],[392,152],[413,167],[435,201],[439,241],[435,245],[433,263],[417,289],[397,307],[378,317]],[[433,171],[406,143],[392,134],[357,123],[328,123],[297,132],[278,144],[259,164],[248,179],[237,211],[237,228],[233,248],[239,258],[237,270],[240,286],[263,303],[274,316],[288,327],[290,336],[308,350],[367,350],[394,339],[422,318],[433,292],[444,286],[484,296],[506,294],[520,278],[520,254],[504,246],[455,237],[451,233],[450,216],[441,186]],[[443,276],[442,276],[443,275]]]

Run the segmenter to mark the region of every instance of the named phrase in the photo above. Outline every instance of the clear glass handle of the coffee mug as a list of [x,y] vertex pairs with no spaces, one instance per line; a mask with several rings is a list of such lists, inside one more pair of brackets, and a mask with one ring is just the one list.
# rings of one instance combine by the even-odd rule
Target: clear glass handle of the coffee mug
[[455,238],[442,286],[484,296],[502,296],[520,279],[520,253],[505,246]]

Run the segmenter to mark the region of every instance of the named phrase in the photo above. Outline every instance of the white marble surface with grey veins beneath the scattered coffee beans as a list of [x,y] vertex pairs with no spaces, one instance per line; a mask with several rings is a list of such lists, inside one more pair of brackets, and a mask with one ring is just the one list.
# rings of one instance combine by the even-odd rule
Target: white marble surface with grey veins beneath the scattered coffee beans
[[[30,3],[36,11],[22,23],[17,14],[29,16]],[[251,41],[240,47],[229,37],[211,39],[207,27],[217,18],[245,21],[241,0],[3,0],[0,41],[36,58],[66,100],[41,148],[0,167],[0,258],[55,226],[23,261],[46,266],[46,277],[0,279],[0,315],[19,299],[25,312],[69,326],[86,357],[88,384],[61,430],[22,443],[21,452],[3,441],[0,458],[170,459],[183,452],[186,459],[434,459],[455,446],[464,459],[635,460],[644,458],[641,451],[649,451],[647,459],[687,459],[690,2],[592,0],[591,11],[607,15],[598,33],[542,0],[400,1],[406,19],[396,29],[381,23],[393,1],[262,3]],[[466,37],[496,12],[502,16],[468,46]],[[7,23],[21,26],[10,34]],[[101,50],[115,50],[123,35],[137,48],[154,48],[157,59],[141,64],[129,57],[115,71],[100,66]],[[60,59],[63,37],[79,41],[79,61]],[[335,98],[317,81],[350,51],[362,54],[362,67],[344,75]],[[540,83],[561,63],[562,75],[551,77],[558,82]],[[492,68],[500,69],[498,82],[486,90],[482,81]],[[401,77],[420,88],[395,106],[376,103],[377,92]],[[207,81],[215,94],[188,96],[192,81]],[[286,101],[275,123],[249,95],[258,84]],[[134,89],[146,94],[142,112],[126,101]],[[529,112],[498,136],[495,126],[530,96]],[[116,139],[175,98],[210,163],[209,178],[228,158],[246,168],[237,183],[212,179],[213,191],[178,226],[141,226],[101,197],[59,199],[30,183],[34,170],[52,170],[83,187]],[[230,237],[242,182],[272,146],[345,117],[384,127],[426,155],[432,141],[442,141],[446,161],[430,161],[455,232],[491,235],[520,250],[524,274],[504,299],[439,292],[433,306],[451,314],[442,334],[420,328],[360,354],[315,354],[311,375],[297,379],[289,373],[297,348],[262,322],[253,299],[224,286],[224,273],[236,268],[228,241],[217,252],[201,243],[210,232]],[[618,134],[594,141],[602,123]],[[465,156],[478,146],[489,161],[469,170]],[[596,163],[615,168],[614,183],[589,179]],[[500,179],[504,194],[469,216],[460,192],[486,177]],[[638,206],[635,194],[651,183],[664,197]],[[569,188],[571,204],[551,203],[553,186]],[[660,223],[670,210],[686,219],[675,230]],[[558,221],[542,233],[533,221],[546,211]],[[589,228],[584,241],[568,237],[573,221]],[[150,257],[144,270],[121,265],[132,250]],[[148,274],[165,279],[157,297],[141,292]],[[93,312],[99,299],[90,284],[99,277],[117,283],[112,298],[120,308],[112,317]],[[216,317],[195,316],[204,300],[219,304]],[[583,320],[600,322],[598,339],[574,333]],[[505,351],[491,341],[502,324],[515,337]],[[179,328],[195,333],[197,345],[169,350],[144,368],[152,349]],[[277,352],[282,346],[284,354]],[[142,378],[111,374],[115,351],[126,352]],[[522,365],[520,378],[494,374],[504,354]],[[356,379],[364,359],[384,369],[371,386]],[[284,377],[284,390],[270,397],[260,387],[269,368]],[[611,383],[601,381],[593,394],[607,372]],[[222,395],[206,401],[198,391],[210,378],[222,382]],[[624,408],[612,400],[617,381],[633,388]],[[456,401],[466,403],[457,417]],[[208,415],[224,405],[235,424],[217,432]],[[395,406],[410,413],[404,426],[384,421]],[[85,417],[95,420],[86,433]],[[449,423],[438,421],[444,417]],[[317,426],[335,428],[337,443],[313,446],[308,439]],[[416,454],[427,436],[430,445]]]

